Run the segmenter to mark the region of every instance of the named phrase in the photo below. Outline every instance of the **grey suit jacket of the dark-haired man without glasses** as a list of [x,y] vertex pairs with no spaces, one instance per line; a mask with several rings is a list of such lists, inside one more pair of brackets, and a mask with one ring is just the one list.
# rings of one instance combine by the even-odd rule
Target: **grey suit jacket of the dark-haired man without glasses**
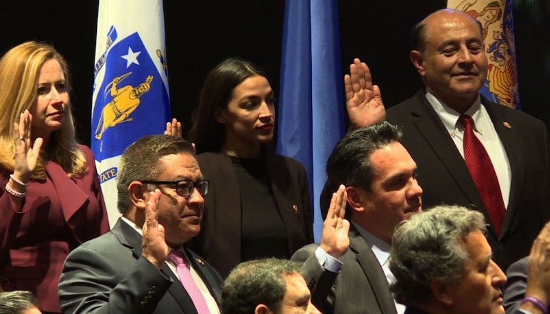
[[317,244],[305,246],[294,253],[293,261],[303,263],[311,301],[323,313],[383,313],[396,314],[388,281],[376,256],[350,226],[349,249],[340,257],[340,273],[324,270],[315,256]]

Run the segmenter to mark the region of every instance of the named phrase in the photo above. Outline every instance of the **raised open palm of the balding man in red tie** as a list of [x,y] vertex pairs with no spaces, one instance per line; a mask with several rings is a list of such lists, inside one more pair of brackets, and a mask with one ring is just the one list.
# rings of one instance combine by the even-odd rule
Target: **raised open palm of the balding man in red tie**
[[371,72],[365,62],[355,58],[344,75],[346,109],[353,128],[372,126],[386,120],[386,108],[377,85],[372,85]]

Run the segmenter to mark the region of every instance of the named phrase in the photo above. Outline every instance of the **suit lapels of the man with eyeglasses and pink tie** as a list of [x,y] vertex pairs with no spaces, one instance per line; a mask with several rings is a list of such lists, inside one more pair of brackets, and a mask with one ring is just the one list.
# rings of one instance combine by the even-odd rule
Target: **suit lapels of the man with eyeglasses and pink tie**
[[[113,234],[117,236],[120,243],[124,246],[131,248],[134,258],[138,259],[141,257],[141,244],[142,238],[134,229],[131,228],[127,223],[119,219],[117,224],[112,230]],[[174,297],[174,300],[178,302],[179,306],[182,307],[183,312],[196,314],[195,305],[191,301],[191,297],[187,294],[187,291],[183,288],[183,285],[180,283],[178,277],[172,272],[166,263],[161,268],[161,271],[164,275],[172,278],[174,281],[170,288],[168,288],[168,293]]]

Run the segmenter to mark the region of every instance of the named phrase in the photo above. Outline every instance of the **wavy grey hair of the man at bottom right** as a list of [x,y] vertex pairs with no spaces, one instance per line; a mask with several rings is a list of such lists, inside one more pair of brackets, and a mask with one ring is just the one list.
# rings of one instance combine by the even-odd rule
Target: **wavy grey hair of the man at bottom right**
[[459,280],[469,259],[463,243],[477,230],[486,231],[483,214],[457,205],[439,205],[399,224],[389,257],[396,279],[390,286],[395,300],[421,304],[432,296],[432,280]]

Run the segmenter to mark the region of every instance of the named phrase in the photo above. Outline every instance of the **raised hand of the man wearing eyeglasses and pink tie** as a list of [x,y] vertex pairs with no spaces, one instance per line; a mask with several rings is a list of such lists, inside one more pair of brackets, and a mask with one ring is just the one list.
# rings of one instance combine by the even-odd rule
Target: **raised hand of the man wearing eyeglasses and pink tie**
[[145,207],[145,223],[141,229],[143,234],[141,255],[147,258],[157,269],[161,269],[168,258],[170,248],[166,244],[164,226],[158,223],[158,200],[161,190],[149,193],[149,201]]

